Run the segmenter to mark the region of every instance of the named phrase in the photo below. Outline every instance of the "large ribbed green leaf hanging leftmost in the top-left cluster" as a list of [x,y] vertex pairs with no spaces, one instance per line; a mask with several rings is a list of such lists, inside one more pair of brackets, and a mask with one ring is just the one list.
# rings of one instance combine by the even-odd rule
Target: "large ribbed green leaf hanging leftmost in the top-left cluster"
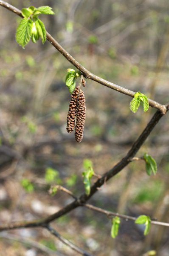
[[19,26],[16,31],[16,40],[17,43],[20,44],[23,49],[26,44],[28,44],[31,37],[31,30],[33,26],[33,21],[31,19],[23,18],[20,21]]

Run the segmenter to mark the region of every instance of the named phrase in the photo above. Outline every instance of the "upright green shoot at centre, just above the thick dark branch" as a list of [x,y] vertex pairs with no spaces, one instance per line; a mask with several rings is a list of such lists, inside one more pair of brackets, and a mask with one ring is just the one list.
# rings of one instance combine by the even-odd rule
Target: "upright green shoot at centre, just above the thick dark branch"
[[82,172],[83,184],[85,186],[85,193],[86,195],[90,195],[90,185],[91,185],[90,179],[94,174],[92,162],[89,159],[84,159],[83,168],[86,170]]

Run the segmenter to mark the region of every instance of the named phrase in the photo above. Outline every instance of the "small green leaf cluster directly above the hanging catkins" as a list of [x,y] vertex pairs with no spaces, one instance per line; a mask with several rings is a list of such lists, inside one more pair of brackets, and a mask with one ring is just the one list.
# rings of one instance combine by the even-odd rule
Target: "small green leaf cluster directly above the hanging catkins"
[[81,75],[81,73],[79,70],[73,70],[72,68],[68,68],[67,72],[68,73],[66,75],[65,81],[69,92],[72,94],[76,87],[76,79]]

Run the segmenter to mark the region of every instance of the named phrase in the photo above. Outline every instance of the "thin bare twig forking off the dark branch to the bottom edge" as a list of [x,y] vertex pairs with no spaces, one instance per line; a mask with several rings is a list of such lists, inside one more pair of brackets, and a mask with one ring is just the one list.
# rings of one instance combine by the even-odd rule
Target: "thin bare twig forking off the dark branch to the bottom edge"
[[75,250],[77,253],[80,253],[84,256],[93,256],[90,253],[87,253],[85,250],[82,250],[81,248],[77,247],[75,244],[72,244],[70,241],[68,241],[67,239],[65,239],[65,237],[61,236],[59,233],[56,232],[56,230],[54,230],[51,226],[49,225],[44,225],[44,227],[49,230],[49,232],[56,236],[60,241],[62,241],[62,243],[68,245],[72,250]]

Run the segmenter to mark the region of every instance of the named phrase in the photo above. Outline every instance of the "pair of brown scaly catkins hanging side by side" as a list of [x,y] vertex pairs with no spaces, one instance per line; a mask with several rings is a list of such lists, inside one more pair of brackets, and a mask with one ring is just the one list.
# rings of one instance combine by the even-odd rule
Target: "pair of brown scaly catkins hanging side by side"
[[[69,104],[69,111],[67,116],[67,127],[68,132],[72,132],[75,127],[75,140],[81,142],[83,139],[83,130],[85,126],[86,118],[86,105],[85,95],[82,90],[75,87],[72,98]],[[76,120],[75,120],[76,119]],[[76,125],[75,125],[76,121]]]

